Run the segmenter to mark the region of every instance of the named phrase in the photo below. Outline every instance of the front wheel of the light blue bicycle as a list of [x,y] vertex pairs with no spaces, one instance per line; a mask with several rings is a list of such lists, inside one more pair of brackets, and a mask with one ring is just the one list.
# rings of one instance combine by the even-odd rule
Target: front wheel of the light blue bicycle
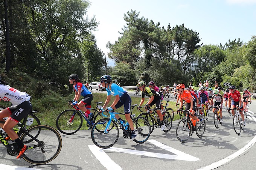
[[[113,146],[118,140],[119,129],[113,120],[111,120],[109,126],[113,126],[113,128],[111,130],[108,129],[107,133],[104,133],[107,123],[109,121],[110,118],[98,120],[91,128],[91,140],[93,140],[93,143],[100,148],[109,148]],[[99,132],[96,128],[99,129],[101,132]]]

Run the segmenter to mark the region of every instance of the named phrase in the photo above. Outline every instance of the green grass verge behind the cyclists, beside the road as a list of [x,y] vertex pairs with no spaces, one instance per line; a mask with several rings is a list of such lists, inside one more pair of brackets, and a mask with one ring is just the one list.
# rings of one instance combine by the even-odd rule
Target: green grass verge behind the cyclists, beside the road
[[[32,99],[32,106],[33,110],[37,110],[38,113],[35,115],[39,118],[41,124],[49,125],[54,128],[56,128],[56,118],[64,110],[71,109],[71,106],[68,106],[68,101],[73,100],[74,94],[71,94],[69,96],[63,97],[62,95],[49,91],[49,94],[46,95],[44,98],[40,99]],[[101,105],[104,105],[105,100],[107,98],[107,95],[105,93],[93,93],[93,101],[91,102],[91,108],[96,107],[95,102],[103,102]],[[82,98],[81,98],[82,99]],[[140,103],[141,98],[139,97],[131,97],[132,99],[132,104],[138,104]],[[112,104],[114,101],[114,96],[111,96],[111,101],[109,105]],[[146,104],[147,99],[145,100]],[[166,102],[163,101],[163,105],[165,105]],[[172,108],[174,110],[174,120],[180,119],[179,115],[177,115],[177,107],[175,106],[175,102],[168,102],[169,106],[168,108]],[[6,105],[10,106],[10,102],[3,102],[0,101],[0,105]],[[142,108],[141,110],[144,110]],[[118,113],[124,113],[124,108],[123,106],[115,110]],[[134,107],[133,109],[133,114],[136,114],[136,117],[140,114],[141,112],[137,110],[137,107]],[[122,119],[125,119],[124,115],[120,115]],[[87,129],[88,127],[86,126],[86,121],[83,119],[83,126],[81,129]]]

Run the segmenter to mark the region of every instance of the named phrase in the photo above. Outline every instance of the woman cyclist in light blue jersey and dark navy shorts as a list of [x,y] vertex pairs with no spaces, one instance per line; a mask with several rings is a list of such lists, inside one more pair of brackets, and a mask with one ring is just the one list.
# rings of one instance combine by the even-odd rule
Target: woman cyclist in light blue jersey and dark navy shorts
[[[111,79],[110,75],[102,75],[101,84],[107,90],[107,99],[105,101],[105,104],[101,108],[101,111],[102,111],[102,109],[107,107],[108,103],[110,102],[111,95],[115,96],[113,103],[110,105],[110,107],[107,107],[106,110],[114,111],[115,109],[121,107],[122,105],[124,106],[125,119],[129,123],[131,132],[132,132],[130,141],[134,141],[138,132],[134,131],[133,120],[131,120],[131,117],[130,117],[131,97],[128,95],[128,92],[125,89],[123,89],[123,87],[120,87],[115,83],[112,83],[112,79]],[[121,117],[118,114],[116,114],[115,117],[116,117],[116,119],[119,120],[119,122],[121,124],[125,123],[125,121],[123,119],[121,119]]]

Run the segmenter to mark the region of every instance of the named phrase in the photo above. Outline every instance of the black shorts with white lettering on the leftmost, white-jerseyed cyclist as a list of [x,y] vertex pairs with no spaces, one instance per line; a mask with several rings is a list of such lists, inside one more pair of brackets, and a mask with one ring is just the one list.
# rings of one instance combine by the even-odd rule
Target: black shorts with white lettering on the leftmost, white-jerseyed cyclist
[[11,114],[9,119],[18,123],[32,111],[32,104],[30,101],[24,101],[17,106],[8,107],[8,110]]

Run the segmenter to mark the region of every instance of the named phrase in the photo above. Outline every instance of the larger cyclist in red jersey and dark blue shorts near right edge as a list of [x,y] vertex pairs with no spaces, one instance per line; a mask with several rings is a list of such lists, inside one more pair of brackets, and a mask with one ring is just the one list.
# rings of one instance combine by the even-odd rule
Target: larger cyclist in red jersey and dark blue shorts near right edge
[[[233,110],[233,108],[235,108],[237,105],[240,108],[239,109],[239,113],[241,114],[242,120],[243,120],[243,125],[245,126],[245,120],[244,120],[244,114],[242,113],[242,109],[243,109],[243,104],[242,104],[242,99],[241,99],[241,94],[238,90],[235,90],[236,86],[229,86],[229,108],[230,108],[230,104],[231,104],[231,109],[232,109],[232,115],[235,115],[235,110]],[[232,97],[232,101],[231,98]],[[228,108],[228,110],[229,110]]]

